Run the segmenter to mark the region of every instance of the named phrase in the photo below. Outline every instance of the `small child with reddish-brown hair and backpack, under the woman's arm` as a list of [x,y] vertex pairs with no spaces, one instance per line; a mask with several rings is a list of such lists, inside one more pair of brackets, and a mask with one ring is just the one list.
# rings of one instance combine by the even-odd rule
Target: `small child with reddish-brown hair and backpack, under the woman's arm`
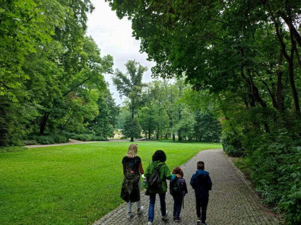
[[175,167],[172,174],[180,174],[182,178],[176,178],[169,182],[169,192],[173,197],[173,219],[175,222],[180,222],[181,207],[184,208],[184,196],[187,194],[186,181],[183,178],[184,173],[180,167]]

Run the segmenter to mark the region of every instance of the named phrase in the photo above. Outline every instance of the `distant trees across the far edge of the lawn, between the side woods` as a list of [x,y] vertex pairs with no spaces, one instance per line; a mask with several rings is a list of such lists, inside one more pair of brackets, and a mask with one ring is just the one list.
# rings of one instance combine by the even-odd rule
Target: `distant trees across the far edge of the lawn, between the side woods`
[[184,96],[190,88],[183,79],[142,83],[147,68],[134,60],[125,66],[126,74],[116,70],[113,75],[114,85],[126,97],[118,119],[124,137],[133,141],[141,137],[142,131],[147,139],[154,135],[157,140],[175,141],[177,136],[178,141],[220,142],[219,121],[208,110],[185,104]]

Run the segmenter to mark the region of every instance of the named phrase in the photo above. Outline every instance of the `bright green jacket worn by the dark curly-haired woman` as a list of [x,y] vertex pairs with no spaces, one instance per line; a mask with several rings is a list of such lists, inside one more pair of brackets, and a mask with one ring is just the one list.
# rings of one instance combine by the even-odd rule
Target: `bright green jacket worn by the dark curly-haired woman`
[[[159,165],[162,164],[162,162],[161,161],[154,161],[154,164],[155,164],[156,167],[158,167]],[[152,162],[150,162],[148,164],[148,167],[147,167],[146,171],[144,171],[144,176],[148,180],[154,172],[155,172],[155,168],[154,168]],[[160,179],[162,181],[162,187],[160,189],[156,189],[156,190],[149,189],[150,193],[152,193],[152,194],[165,193],[167,191],[166,179],[167,180],[175,179],[175,175],[170,174],[170,170],[168,169],[166,164],[164,164],[162,167],[159,168],[158,173],[159,173]],[[148,189],[147,186],[146,186],[146,188]]]

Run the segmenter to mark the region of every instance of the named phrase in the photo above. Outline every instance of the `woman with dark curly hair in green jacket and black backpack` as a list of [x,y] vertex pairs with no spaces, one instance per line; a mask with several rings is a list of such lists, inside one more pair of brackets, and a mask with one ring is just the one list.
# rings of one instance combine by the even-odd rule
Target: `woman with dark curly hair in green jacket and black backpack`
[[154,221],[154,209],[156,195],[159,194],[161,215],[163,220],[167,220],[168,211],[166,210],[165,196],[167,191],[167,180],[174,180],[176,177],[181,177],[181,175],[170,174],[170,170],[165,164],[166,155],[162,150],[157,150],[152,161],[149,163],[144,177],[147,179],[146,188],[147,193],[150,196],[150,204],[148,208],[148,225],[151,225]]

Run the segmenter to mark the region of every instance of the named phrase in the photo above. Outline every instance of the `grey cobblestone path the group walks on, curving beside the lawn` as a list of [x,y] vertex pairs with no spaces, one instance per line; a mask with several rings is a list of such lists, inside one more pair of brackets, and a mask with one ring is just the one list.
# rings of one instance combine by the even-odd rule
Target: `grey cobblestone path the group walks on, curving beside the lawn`
[[[168,157],[168,156],[167,156]],[[155,220],[153,224],[195,224],[196,210],[194,191],[189,181],[196,170],[197,161],[205,162],[205,170],[210,173],[213,182],[212,191],[209,192],[207,209],[208,225],[253,225],[253,224],[279,224],[275,215],[265,208],[256,193],[250,188],[241,172],[236,169],[232,161],[223,153],[222,149],[210,149],[199,152],[191,160],[182,165],[184,178],[188,183],[188,195],[185,196],[185,208],[181,211],[182,221],[175,223],[172,219],[173,199],[166,193],[166,208],[169,211],[169,220],[164,222],[160,214],[160,201],[157,195],[155,205]],[[170,168],[172,169],[172,168]],[[109,214],[95,221],[99,224],[147,224],[149,197],[141,193],[141,205],[144,206],[142,215],[136,214],[135,205],[132,209],[134,217],[126,218],[126,204],[122,204]]]

